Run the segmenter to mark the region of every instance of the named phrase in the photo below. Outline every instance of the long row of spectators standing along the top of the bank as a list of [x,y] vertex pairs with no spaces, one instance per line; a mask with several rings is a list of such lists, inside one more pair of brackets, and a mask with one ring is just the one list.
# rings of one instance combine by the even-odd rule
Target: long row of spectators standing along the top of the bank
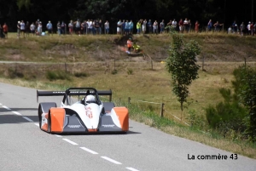
[[[108,20],[102,22],[102,20],[70,20],[68,24],[64,21],[58,21],[56,25],[53,25],[49,20],[47,24],[43,25],[42,21],[36,20],[31,24],[28,21],[18,21],[17,22],[17,37],[26,37],[30,34],[39,36],[44,36],[45,34],[53,35],[57,33],[58,35],[96,35],[96,34],[109,34],[110,26]],[[187,18],[180,20],[169,20],[165,23],[165,20],[161,20],[160,23],[157,20],[137,20],[137,23],[133,23],[132,20],[119,20],[116,24],[116,31],[112,33],[117,33],[119,35],[128,35],[137,33],[139,34],[163,34],[169,31],[178,31],[181,33],[189,33],[190,31],[201,32],[201,31],[225,31],[224,24],[216,21],[209,20],[205,27],[201,27],[198,20],[192,23],[191,20]],[[238,33],[240,35],[254,35],[256,29],[256,23],[248,22],[245,24],[241,22],[241,25],[236,24],[236,20],[229,26],[227,33]],[[4,23],[3,26],[0,25],[0,36],[8,37],[8,26]]]

